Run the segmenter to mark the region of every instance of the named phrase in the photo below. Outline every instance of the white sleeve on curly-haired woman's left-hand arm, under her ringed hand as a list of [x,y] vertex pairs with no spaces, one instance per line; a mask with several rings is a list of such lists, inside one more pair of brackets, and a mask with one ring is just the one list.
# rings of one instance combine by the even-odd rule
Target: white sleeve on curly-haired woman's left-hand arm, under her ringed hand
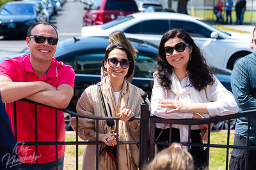
[[170,90],[165,90],[157,81],[157,78],[154,78],[154,87],[152,89],[151,96],[151,111],[153,115],[161,118],[175,118],[175,119],[183,119],[183,118],[192,118],[193,113],[169,113],[166,111],[173,110],[173,108],[162,108],[161,104],[159,104],[159,100],[161,99],[175,99],[175,94],[173,94]]

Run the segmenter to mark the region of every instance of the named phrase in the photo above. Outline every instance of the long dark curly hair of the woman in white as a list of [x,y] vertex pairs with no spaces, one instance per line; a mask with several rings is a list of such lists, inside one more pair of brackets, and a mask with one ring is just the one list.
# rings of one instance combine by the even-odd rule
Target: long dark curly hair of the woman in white
[[212,85],[214,82],[213,75],[210,67],[207,66],[202,51],[195,44],[195,41],[191,36],[189,36],[188,32],[182,29],[171,29],[170,31],[165,32],[160,41],[156,60],[157,80],[160,85],[166,90],[171,90],[172,80],[170,79],[170,76],[173,73],[173,66],[166,60],[165,52],[162,49],[164,48],[164,43],[172,38],[183,39],[189,46],[193,46],[191,60],[189,60],[187,67],[190,85],[195,87],[198,91],[205,89],[207,85]]

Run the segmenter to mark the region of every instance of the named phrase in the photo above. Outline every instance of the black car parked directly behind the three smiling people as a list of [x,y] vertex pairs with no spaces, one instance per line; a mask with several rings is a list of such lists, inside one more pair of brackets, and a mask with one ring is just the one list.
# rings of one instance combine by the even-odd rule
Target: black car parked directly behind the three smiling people
[[[132,45],[138,49],[138,57],[135,58],[135,73],[132,84],[140,87],[148,94],[150,99],[153,85],[153,72],[156,63],[156,54],[158,47],[148,41],[129,38]],[[73,67],[76,78],[74,85],[74,97],[68,105],[68,110],[76,112],[77,100],[89,85],[100,81],[100,67],[105,55],[106,46],[109,45],[108,37],[76,37],[68,38],[58,42],[54,57]],[[5,56],[3,59],[10,59],[26,53]],[[0,62],[3,60],[0,60]],[[220,69],[212,67],[212,72],[221,81],[227,90],[232,91],[230,86],[229,69]],[[65,116],[65,129],[70,128],[70,118],[68,113]],[[236,122],[232,122],[231,128],[234,128]],[[222,126],[225,122],[218,122],[215,128],[225,128]]]

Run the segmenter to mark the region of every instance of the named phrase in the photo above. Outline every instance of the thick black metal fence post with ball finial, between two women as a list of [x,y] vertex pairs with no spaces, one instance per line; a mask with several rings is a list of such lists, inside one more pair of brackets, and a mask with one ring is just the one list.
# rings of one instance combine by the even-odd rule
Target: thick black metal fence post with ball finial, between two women
[[141,103],[141,119],[140,119],[140,169],[143,164],[148,161],[148,124],[149,124],[149,109],[146,102],[147,94],[141,94],[143,102]]

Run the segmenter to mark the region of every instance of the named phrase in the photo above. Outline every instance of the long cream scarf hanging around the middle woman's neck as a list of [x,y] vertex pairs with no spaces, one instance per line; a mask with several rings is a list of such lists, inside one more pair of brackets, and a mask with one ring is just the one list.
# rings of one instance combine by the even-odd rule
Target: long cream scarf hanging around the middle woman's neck
[[[118,100],[118,106],[116,106],[116,98],[115,98],[115,93],[113,91],[113,87],[111,85],[111,82],[109,81],[108,76],[104,77],[100,81],[100,86],[102,87],[102,93],[106,97],[106,100],[108,101],[109,107],[111,109],[111,113],[113,117],[116,117],[117,113],[120,113],[124,108],[127,108],[128,104],[128,99],[129,99],[129,94],[130,94],[130,88],[129,88],[129,82],[124,81],[122,90],[119,96]],[[119,141],[133,141],[131,139],[131,136],[127,135],[128,129],[127,125],[125,125],[125,122],[119,120]],[[126,124],[129,124],[128,122]],[[119,150],[118,150],[118,169],[136,169],[136,165],[134,165],[134,161],[131,160],[132,158],[132,153],[131,153],[131,148],[129,145],[119,145]],[[102,157],[102,161],[104,162],[104,159]],[[102,162],[100,161],[100,162]],[[102,163],[103,163],[102,162]],[[125,164],[125,162],[128,163]],[[132,162],[131,165],[129,162]],[[103,166],[104,167],[104,166]],[[106,167],[109,169],[109,167]],[[113,165],[112,167],[115,169],[115,166]]]

